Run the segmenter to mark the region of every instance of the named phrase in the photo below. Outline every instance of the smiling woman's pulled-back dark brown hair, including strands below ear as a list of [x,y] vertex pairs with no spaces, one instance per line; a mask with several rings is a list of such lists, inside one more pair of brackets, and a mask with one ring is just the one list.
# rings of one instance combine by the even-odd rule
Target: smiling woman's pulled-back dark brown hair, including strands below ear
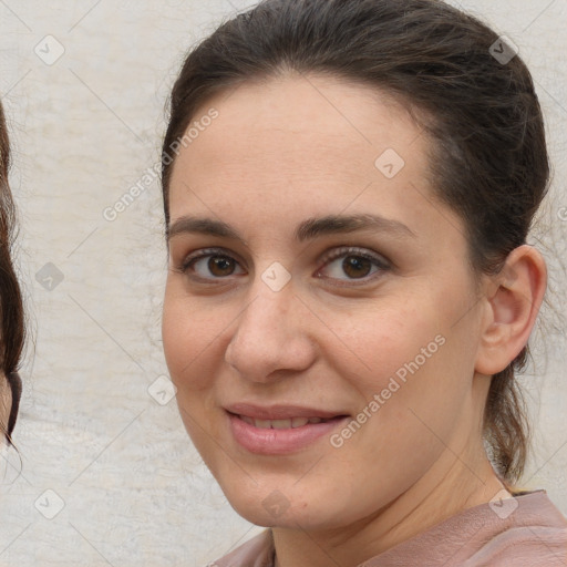
[[[163,145],[168,221],[172,148],[213,95],[288,70],[327,73],[393,94],[433,141],[437,197],[463,218],[475,274],[497,274],[525,244],[549,164],[529,71],[480,20],[439,0],[266,0],[220,25],[187,55],[171,96]],[[421,118],[417,118],[421,116]],[[175,145],[177,143],[177,146]],[[515,371],[527,347],[495,374],[484,439],[497,473],[515,483],[529,429]]]

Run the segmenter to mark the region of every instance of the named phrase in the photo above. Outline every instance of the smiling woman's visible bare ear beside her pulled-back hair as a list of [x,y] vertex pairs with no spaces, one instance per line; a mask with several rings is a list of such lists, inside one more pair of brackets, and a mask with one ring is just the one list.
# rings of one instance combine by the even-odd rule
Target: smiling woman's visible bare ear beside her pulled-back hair
[[527,344],[547,287],[543,256],[528,245],[514,249],[486,286],[486,311],[475,370],[503,371]]

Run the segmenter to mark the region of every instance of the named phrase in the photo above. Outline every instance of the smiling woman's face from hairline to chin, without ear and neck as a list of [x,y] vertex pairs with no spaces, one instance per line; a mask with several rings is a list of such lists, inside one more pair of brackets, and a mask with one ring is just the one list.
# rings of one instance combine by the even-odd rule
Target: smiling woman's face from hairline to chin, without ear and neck
[[245,83],[193,122],[212,109],[173,171],[163,317],[195,445],[259,525],[338,527],[430,491],[476,441],[487,381],[426,137],[317,75]]

